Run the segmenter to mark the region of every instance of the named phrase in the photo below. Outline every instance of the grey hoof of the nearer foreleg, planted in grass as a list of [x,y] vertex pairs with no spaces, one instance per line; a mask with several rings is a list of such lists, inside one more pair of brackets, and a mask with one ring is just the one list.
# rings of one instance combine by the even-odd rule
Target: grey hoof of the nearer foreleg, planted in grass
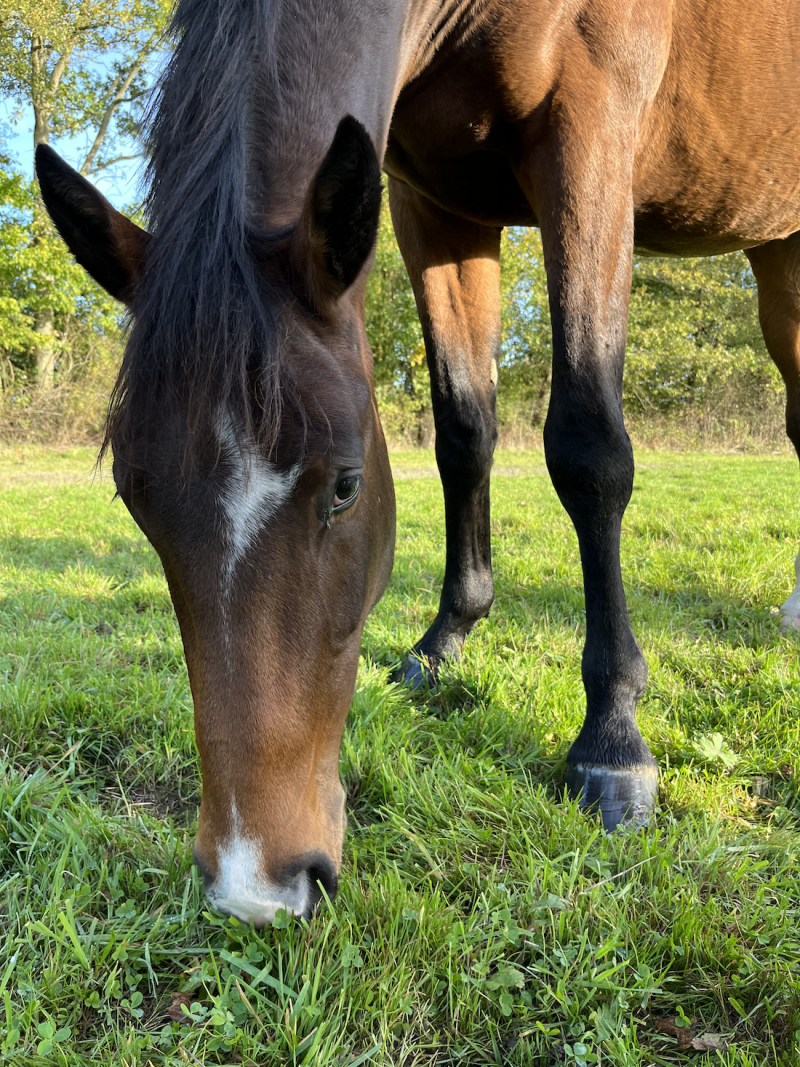
[[618,827],[647,826],[656,807],[658,767],[642,763],[634,767],[571,764],[566,789],[580,807],[599,812],[609,833]]

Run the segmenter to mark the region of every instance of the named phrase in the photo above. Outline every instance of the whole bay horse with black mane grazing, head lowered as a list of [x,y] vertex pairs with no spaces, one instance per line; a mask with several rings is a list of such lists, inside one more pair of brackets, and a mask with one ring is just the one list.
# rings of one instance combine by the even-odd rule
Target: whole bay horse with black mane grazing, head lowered
[[[800,447],[800,6],[785,0],[179,0],[149,133],[149,233],[50,148],[37,175],[132,330],[109,411],[194,700],[210,902],[257,925],[337,886],[338,752],[395,500],[364,290],[381,166],[422,323],[447,554],[403,676],[493,600],[490,469],[507,225],[541,227],[547,466],[577,534],[586,718],[567,784],[652,812],[646,665],[620,571],[635,246],[745,249]],[[800,615],[798,588],[784,606]]]

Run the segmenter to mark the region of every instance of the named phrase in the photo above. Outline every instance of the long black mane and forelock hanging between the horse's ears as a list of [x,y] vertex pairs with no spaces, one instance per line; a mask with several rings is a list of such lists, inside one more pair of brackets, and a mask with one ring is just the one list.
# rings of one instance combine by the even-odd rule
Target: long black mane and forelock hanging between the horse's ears
[[[134,297],[103,451],[178,414],[186,451],[227,410],[269,450],[281,423],[283,300],[254,255],[258,77],[274,70],[281,0],[179,0],[177,47],[150,106],[145,216],[153,235]],[[256,67],[257,64],[257,67]],[[257,195],[257,190],[255,190]]]

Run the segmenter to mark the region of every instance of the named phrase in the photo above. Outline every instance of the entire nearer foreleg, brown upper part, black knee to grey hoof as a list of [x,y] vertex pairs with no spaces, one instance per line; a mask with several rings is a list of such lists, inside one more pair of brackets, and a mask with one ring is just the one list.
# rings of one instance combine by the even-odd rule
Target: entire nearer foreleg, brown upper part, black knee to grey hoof
[[622,516],[634,457],[622,416],[633,259],[633,132],[608,130],[613,108],[590,94],[579,115],[529,157],[553,319],[553,384],[544,428],[547,467],[578,537],[586,599],[587,711],[567,755],[566,784],[606,829],[639,825],[655,802],[658,769],[636,723],[647,667],[634,636],[620,569]]

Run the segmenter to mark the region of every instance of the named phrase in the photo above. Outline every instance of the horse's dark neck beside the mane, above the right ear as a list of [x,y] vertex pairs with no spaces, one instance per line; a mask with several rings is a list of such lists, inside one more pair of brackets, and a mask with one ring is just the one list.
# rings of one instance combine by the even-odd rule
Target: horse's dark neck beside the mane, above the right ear
[[383,157],[400,90],[469,6],[474,0],[284,0],[253,93],[247,185],[261,222],[297,219],[343,115],[366,127]]

